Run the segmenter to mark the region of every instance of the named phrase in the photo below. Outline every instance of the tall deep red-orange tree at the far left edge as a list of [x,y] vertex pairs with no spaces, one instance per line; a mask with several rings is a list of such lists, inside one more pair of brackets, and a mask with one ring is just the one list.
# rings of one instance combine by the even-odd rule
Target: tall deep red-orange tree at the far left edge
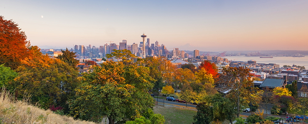
[[12,20],[0,16],[0,64],[15,70],[24,58],[29,57],[25,32]]

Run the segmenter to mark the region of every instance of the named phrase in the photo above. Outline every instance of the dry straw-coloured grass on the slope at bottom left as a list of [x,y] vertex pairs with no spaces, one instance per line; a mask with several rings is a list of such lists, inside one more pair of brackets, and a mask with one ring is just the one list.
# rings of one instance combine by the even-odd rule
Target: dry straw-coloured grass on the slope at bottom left
[[27,101],[27,99],[16,101],[12,94],[1,90],[0,123],[94,124],[94,122],[74,120],[72,117],[57,115],[50,110],[45,111],[39,107],[29,105]]

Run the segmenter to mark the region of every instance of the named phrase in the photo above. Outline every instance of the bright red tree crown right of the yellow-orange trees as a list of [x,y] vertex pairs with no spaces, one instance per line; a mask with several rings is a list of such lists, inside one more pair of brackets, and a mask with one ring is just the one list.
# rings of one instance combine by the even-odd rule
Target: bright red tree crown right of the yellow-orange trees
[[219,75],[217,66],[209,60],[204,60],[204,62],[201,62],[200,66],[198,66],[198,70],[201,68],[204,68],[206,72],[212,74],[214,79],[218,78]]

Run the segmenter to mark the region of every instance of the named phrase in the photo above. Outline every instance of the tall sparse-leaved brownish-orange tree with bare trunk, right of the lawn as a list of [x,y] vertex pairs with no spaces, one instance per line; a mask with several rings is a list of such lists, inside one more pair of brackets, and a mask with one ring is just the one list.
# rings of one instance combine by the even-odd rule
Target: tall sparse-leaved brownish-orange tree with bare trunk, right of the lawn
[[219,76],[220,83],[224,83],[230,92],[227,97],[234,101],[237,105],[237,117],[241,112],[241,106],[244,103],[248,103],[243,99],[250,96],[250,88],[253,87],[253,81],[250,70],[242,67],[227,67],[223,69],[223,73]]

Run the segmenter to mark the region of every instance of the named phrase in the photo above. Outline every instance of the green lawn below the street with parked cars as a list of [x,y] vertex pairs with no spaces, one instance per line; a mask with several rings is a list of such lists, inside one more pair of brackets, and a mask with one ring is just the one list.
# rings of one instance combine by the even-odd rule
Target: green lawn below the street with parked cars
[[155,106],[154,113],[164,115],[165,124],[192,124],[193,116],[196,115],[197,111],[177,107]]

